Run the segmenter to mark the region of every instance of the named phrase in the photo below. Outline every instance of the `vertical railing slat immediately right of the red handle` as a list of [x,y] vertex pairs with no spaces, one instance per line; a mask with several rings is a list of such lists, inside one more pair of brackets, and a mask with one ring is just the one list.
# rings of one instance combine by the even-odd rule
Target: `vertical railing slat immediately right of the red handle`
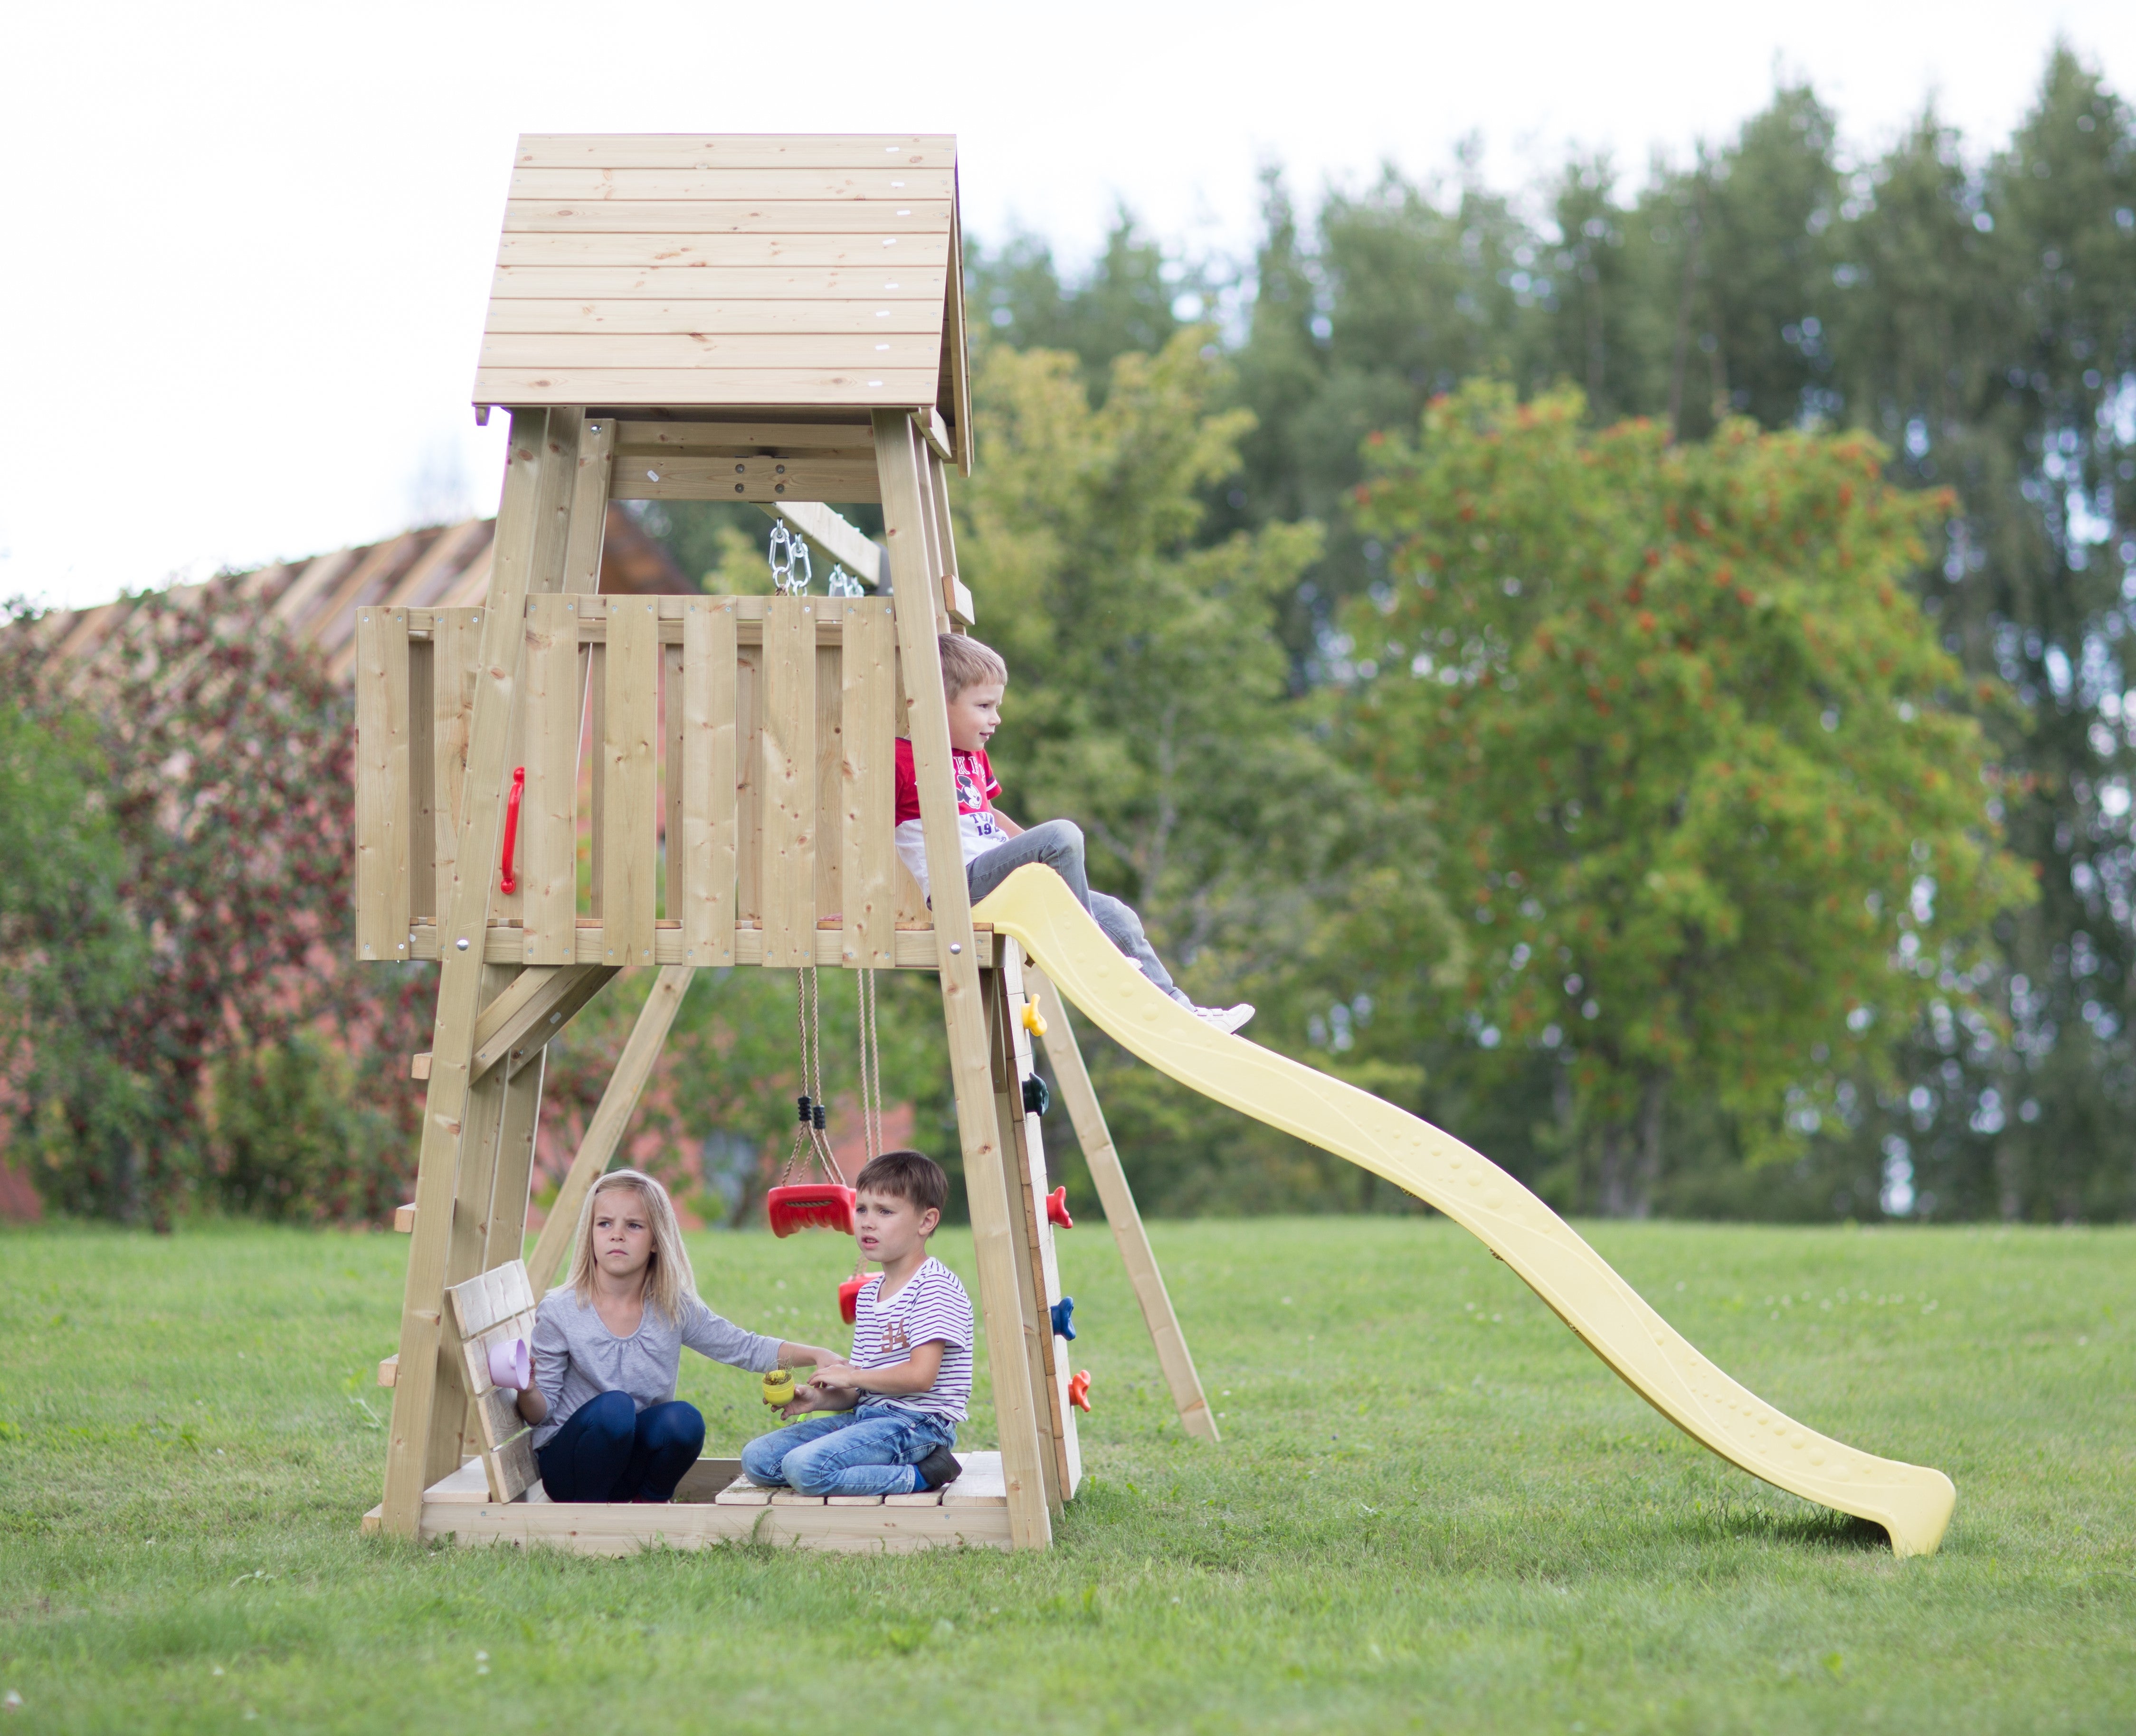
[[525,767],[519,875],[525,961],[568,965],[579,916],[579,604],[528,598]]

